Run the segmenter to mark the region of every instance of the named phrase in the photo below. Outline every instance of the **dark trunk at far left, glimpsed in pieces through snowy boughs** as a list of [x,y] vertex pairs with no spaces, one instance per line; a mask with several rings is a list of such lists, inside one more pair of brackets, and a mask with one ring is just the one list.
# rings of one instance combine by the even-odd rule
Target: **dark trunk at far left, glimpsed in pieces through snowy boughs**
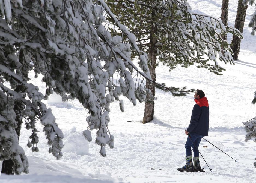
[[[19,55],[19,61],[21,63],[22,62],[22,59],[24,59],[24,55],[23,55],[23,52],[20,51],[20,55]],[[15,92],[25,92],[25,87],[22,86],[22,85],[17,85],[16,89],[14,90]],[[15,114],[16,114],[16,121],[17,121],[17,128],[15,128],[15,131],[17,133],[17,136],[18,136],[18,140],[19,140],[19,137],[20,137],[20,128],[21,128],[21,125],[22,125],[22,115],[21,115],[21,111],[23,109],[25,109],[25,106],[24,104],[21,102],[21,101],[17,101],[15,104],[14,104],[14,111],[15,111]],[[4,160],[3,163],[2,163],[2,169],[1,169],[1,174],[2,173],[5,173],[5,174],[14,174],[13,173],[13,161],[11,159],[8,159],[8,160]]]

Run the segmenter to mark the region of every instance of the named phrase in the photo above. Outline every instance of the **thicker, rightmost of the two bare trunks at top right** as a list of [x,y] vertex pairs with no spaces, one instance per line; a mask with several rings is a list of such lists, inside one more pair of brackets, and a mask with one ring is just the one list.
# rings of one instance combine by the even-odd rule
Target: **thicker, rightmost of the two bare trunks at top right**
[[[245,25],[246,9],[248,7],[248,6],[244,6],[242,2],[243,0],[238,1],[236,21],[234,26],[241,33],[243,33],[243,26]],[[238,58],[238,54],[240,51],[240,44],[241,44],[241,38],[233,35],[233,38],[231,40],[231,49],[233,50],[233,53],[234,53],[232,55],[234,60],[237,60]]]

